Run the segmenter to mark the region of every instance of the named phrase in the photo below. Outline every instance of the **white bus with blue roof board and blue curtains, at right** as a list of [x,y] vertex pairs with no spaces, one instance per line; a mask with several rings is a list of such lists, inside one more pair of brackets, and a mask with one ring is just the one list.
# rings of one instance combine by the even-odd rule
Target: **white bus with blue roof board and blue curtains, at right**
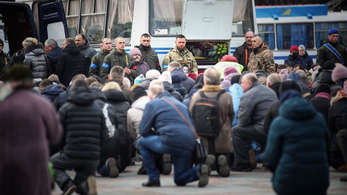
[[284,63],[291,45],[301,44],[315,63],[331,28],[339,30],[338,41],[347,46],[347,11],[331,12],[326,5],[257,6],[255,10],[259,34],[278,64]]

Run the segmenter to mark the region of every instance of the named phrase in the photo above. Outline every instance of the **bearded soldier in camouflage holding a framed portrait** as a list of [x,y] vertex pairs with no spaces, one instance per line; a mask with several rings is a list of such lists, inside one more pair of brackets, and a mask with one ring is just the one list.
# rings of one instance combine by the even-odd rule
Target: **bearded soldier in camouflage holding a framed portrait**
[[176,47],[171,48],[169,53],[164,57],[162,67],[163,71],[167,70],[168,65],[172,61],[182,62],[191,62],[192,63],[192,73],[197,75],[197,63],[193,56],[193,53],[188,51],[186,48],[186,37],[183,35],[177,35],[176,37]]

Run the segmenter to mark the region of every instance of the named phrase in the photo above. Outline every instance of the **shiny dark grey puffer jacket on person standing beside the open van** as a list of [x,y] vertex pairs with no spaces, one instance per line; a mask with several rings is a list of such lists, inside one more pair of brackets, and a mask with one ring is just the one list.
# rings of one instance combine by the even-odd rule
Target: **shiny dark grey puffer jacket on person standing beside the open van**
[[44,46],[41,43],[31,44],[26,46],[24,50],[24,66],[29,67],[33,78],[45,79],[48,77],[47,74],[47,61],[44,55]]

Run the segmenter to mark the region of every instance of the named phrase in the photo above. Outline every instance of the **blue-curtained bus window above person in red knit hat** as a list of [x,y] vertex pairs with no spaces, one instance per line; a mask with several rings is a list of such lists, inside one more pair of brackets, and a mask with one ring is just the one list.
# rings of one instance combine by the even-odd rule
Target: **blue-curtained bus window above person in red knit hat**
[[314,47],[313,24],[277,24],[277,49],[290,49],[292,45],[305,45],[307,49]]

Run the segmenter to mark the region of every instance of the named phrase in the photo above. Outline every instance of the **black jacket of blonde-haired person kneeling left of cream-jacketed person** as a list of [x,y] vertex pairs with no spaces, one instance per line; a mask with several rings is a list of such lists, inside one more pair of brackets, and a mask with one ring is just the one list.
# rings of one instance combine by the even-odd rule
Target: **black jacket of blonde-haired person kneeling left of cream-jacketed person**
[[104,91],[107,102],[112,105],[116,111],[118,120],[118,132],[120,139],[120,171],[129,165],[132,159],[132,142],[127,131],[127,111],[130,108],[127,97],[124,93],[111,89]]

